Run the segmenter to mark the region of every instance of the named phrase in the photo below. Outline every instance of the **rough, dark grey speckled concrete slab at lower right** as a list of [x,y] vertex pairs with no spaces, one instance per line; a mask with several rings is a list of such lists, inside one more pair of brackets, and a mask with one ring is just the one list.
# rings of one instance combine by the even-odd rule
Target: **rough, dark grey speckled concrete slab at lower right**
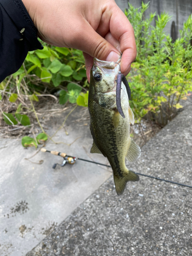
[[[190,104],[142,147],[136,172],[192,185]],[[26,256],[192,255],[192,189],[140,177],[118,197],[113,178]]]

